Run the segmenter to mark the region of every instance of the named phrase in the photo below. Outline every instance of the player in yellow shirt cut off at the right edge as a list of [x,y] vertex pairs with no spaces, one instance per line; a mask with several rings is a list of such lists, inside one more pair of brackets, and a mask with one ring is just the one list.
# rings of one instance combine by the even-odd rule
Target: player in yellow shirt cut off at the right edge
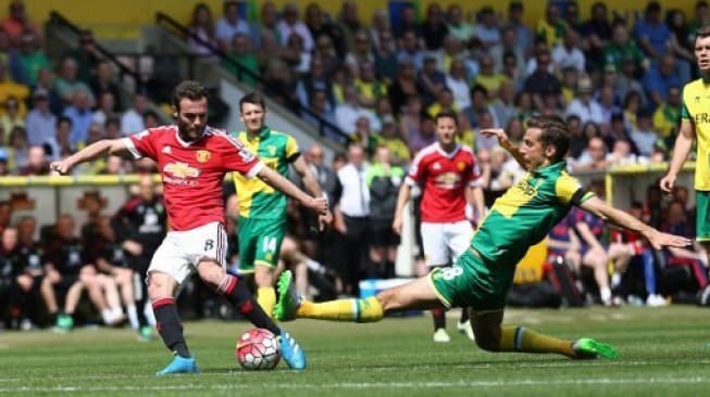
[[661,179],[661,190],[672,193],[683,164],[697,139],[698,155],[695,168],[697,192],[696,240],[710,256],[710,27],[696,31],[695,56],[702,77],[683,88],[681,129],[675,139],[668,175]]

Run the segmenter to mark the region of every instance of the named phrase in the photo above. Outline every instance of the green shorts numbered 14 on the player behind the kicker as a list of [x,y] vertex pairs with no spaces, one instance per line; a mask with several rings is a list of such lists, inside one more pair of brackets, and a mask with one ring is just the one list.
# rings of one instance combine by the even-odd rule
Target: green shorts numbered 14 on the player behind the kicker
[[279,219],[239,217],[239,271],[253,273],[254,265],[276,267],[285,234],[285,217]]

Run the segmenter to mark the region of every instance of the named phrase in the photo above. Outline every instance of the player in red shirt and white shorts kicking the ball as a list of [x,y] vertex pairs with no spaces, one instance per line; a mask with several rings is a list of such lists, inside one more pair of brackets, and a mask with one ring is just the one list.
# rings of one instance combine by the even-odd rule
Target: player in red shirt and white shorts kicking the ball
[[183,81],[172,95],[177,126],[150,128],[123,139],[102,140],[51,164],[59,174],[79,163],[107,155],[133,155],[158,162],[172,231],[148,269],[148,296],[157,328],[174,360],[157,375],[199,372],[183,335],[175,297],[197,272],[217,294],[256,326],[281,338],[282,356],[292,369],[306,368],[306,356],[294,338],[276,326],[246,285],[225,271],[227,235],[222,182],[229,171],[258,177],[317,215],[327,210],[325,198],[314,198],[264,164],[237,139],[207,125],[208,91],[199,82]]

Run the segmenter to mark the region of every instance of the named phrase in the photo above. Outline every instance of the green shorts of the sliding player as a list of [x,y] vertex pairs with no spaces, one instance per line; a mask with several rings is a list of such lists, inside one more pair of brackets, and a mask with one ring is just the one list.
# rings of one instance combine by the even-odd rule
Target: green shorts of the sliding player
[[453,266],[436,268],[428,278],[447,308],[471,307],[484,311],[506,307],[514,273],[514,266],[490,262],[469,248]]

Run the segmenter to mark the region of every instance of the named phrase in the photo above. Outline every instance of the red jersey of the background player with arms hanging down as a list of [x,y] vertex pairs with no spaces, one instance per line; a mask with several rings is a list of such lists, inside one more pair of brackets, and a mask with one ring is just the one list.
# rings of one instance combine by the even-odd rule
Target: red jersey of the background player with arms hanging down
[[481,176],[473,151],[457,145],[451,153],[438,142],[422,149],[407,175],[407,183],[423,188],[422,221],[433,223],[465,220],[465,188]]

